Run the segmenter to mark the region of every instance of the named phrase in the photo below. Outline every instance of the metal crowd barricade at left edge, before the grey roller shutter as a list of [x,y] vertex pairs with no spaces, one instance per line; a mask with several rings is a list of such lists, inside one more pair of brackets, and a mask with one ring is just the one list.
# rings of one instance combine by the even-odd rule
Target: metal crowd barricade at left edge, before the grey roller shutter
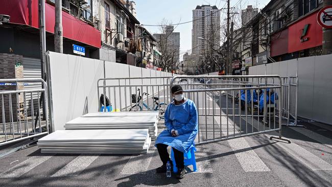
[[[41,120],[40,96],[48,98],[42,79],[0,79],[0,146],[49,133],[48,100],[45,99],[45,121]],[[25,89],[24,85],[40,84],[43,88]],[[7,90],[6,90],[7,89]],[[37,95],[34,98],[33,95]],[[37,108],[34,100],[38,101]]]

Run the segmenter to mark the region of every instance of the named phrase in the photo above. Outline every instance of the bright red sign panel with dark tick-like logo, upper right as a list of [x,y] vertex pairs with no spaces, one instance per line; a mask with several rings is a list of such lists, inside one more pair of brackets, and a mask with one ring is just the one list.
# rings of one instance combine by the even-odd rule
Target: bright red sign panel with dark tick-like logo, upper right
[[317,23],[317,13],[302,18],[288,28],[288,53],[322,45],[323,29]]

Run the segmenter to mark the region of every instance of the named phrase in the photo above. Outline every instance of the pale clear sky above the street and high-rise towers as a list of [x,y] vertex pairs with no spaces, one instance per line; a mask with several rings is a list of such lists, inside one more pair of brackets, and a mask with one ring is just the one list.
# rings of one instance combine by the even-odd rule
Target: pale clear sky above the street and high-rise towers
[[[197,5],[216,5],[219,9],[227,8],[224,0],[134,0],[136,3],[137,19],[143,25],[159,25],[163,19],[172,24],[193,20],[193,10]],[[231,7],[238,10],[252,5],[254,8],[264,8],[270,0],[230,0]],[[227,10],[221,11],[221,17],[226,16]],[[160,33],[159,27],[144,26],[150,33]],[[192,49],[192,22],[177,26],[174,32],[180,32],[180,59],[185,52]]]

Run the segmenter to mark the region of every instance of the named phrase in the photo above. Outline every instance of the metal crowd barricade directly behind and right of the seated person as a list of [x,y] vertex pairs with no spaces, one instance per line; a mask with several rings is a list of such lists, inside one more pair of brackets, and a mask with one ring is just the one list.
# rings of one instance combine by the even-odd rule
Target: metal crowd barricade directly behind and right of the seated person
[[[185,97],[196,104],[198,144],[273,131],[279,134],[270,139],[290,143],[281,136],[283,87],[279,76],[177,76],[170,86],[175,84],[182,85]],[[255,102],[254,92],[258,99]]]

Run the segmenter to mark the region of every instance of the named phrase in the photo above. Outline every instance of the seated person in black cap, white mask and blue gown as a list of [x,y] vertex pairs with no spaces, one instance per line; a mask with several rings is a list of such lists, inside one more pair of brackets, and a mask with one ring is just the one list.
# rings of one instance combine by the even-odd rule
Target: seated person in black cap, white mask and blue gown
[[178,168],[176,178],[181,179],[185,174],[183,153],[195,146],[198,115],[194,102],[183,97],[183,89],[180,85],[173,86],[171,90],[174,100],[167,107],[164,115],[167,129],[159,134],[155,144],[162,161],[162,166],[157,168],[156,172],[165,173],[167,162],[172,163],[167,151],[167,147],[171,146]]

